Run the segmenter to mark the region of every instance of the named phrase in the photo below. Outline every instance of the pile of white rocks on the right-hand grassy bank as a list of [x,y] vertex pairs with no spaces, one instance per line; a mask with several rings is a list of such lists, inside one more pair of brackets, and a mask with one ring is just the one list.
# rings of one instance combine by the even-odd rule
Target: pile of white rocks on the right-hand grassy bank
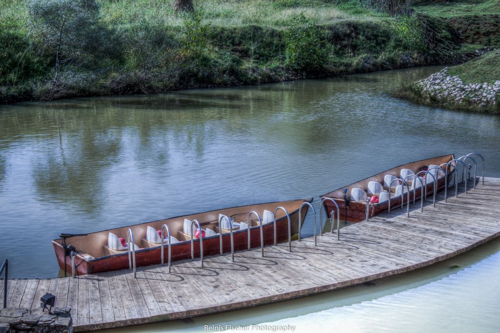
[[494,84],[464,84],[460,77],[448,75],[444,68],[416,83],[423,95],[442,102],[475,104],[478,108],[496,105],[500,100],[500,80]]

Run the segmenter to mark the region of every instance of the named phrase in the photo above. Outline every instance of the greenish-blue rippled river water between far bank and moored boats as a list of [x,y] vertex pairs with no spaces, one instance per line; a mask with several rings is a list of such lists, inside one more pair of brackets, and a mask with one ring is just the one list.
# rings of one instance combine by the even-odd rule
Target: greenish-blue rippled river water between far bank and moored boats
[[0,259],[11,277],[54,277],[61,231],[317,198],[450,152],[500,176],[500,118],[387,94],[436,69],[2,105]]

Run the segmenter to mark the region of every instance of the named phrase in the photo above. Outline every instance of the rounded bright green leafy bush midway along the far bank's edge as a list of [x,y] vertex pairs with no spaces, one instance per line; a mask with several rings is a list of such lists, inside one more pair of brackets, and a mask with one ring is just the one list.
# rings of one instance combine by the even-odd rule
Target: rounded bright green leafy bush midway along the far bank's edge
[[317,27],[303,14],[294,18],[285,32],[285,63],[292,69],[323,69],[328,53]]

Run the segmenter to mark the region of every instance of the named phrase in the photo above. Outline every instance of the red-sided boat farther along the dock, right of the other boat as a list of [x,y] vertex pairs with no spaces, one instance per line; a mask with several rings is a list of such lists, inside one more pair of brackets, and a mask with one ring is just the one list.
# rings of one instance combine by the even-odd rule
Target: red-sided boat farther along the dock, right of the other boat
[[[328,197],[328,198],[332,198],[333,200],[335,200],[335,202],[338,204],[338,207],[339,207],[338,213],[340,213],[340,219],[346,219],[347,221],[351,221],[351,222],[359,222],[359,221],[364,220],[366,218],[366,201],[350,200],[347,207],[345,207],[345,201],[343,199],[343,192],[342,192],[342,190],[344,188],[347,189],[347,192],[346,192],[347,198],[350,198],[351,190],[353,188],[359,188],[359,189],[362,189],[362,190],[367,192],[368,183],[370,181],[375,181],[375,182],[378,182],[380,184],[383,184],[384,177],[387,174],[393,175],[397,178],[400,178],[400,171],[402,169],[410,169],[414,173],[417,173],[418,171],[425,169],[429,165],[440,165],[442,163],[449,162],[452,159],[454,159],[454,155],[449,154],[449,155],[432,157],[432,158],[422,159],[422,160],[414,161],[411,163],[399,165],[399,166],[393,167],[391,169],[385,170],[383,172],[377,173],[375,175],[372,175],[371,177],[364,178],[364,179],[356,181],[350,185],[347,185],[347,186],[335,189],[334,191],[331,191],[329,193],[323,194],[323,195],[321,195],[321,199]],[[452,169],[453,169],[452,167],[448,168],[448,184],[449,184],[449,181],[451,179],[451,175],[449,174],[449,172],[451,172]],[[444,189],[444,176],[442,175],[441,171],[439,171],[439,172],[440,172],[439,173],[440,177],[438,177],[438,179],[437,179],[437,191]],[[414,179],[413,177],[409,177],[406,179],[409,185],[411,185],[411,182],[413,181],[413,179]],[[426,183],[425,185],[427,187],[426,188],[427,195],[431,194],[433,192],[433,183]],[[386,186],[383,186],[383,188],[384,188],[384,190],[387,190],[387,191],[389,190]],[[415,195],[416,199],[420,198],[421,188],[422,188],[421,186],[417,186],[415,188],[414,195]],[[398,205],[401,204],[401,196],[400,195],[396,196],[394,194],[395,190],[393,187],[391,187],[390,190],[391,190],[390,205],[391,205],[391,207],[396,208]],[[413,199],[413,190],[410,190],[408,194],[403,194],[403,195],[404,195],[404,197],[403,197],[403,204],[404,204],[404,203],[406,203],[406,195],[410,196],[410,200]],[[367,194],[368,199],[370,198],[370,196],[371,196],[371,194]],[[326,210],[328,217],[330,217],[331,211],[335,211],[335,212],[337,211],[335,205],[329,200],[324,201],[324,208]],[[373,203],[370,205],[369,215],[375,216],[381,212],[386,211],[387,208],[388,208],[388,201]],[[347,212],[347,216],[346,216],[345,212]]]

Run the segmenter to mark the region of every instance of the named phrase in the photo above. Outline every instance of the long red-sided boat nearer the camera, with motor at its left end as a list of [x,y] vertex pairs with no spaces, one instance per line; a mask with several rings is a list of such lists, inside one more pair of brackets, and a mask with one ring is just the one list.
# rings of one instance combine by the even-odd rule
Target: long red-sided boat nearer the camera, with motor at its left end
[[[199,221],[202,229],[210,228],[218,232],[218,216],[226,215],[234,219],[234,222],[247,222],[247,215],[250,211],[256,211],[262,218],[264,210],[274,212],[278,206],[284,207],[290,216],[291,234],[298,232],[298,208],[303,202],[311,202],[312,198],[277,201],[260,204],[251,204],[245,206],[211,210],[196,214],[171,217],[157,221],[145,222],[129,226],[123,226],[114,229],[102,230],[83,235],[65,237],[65,243],[74,246],[77,255],[75,256],[75,274],[97,273],[109,270],[118,270],[128,268],[128,250],[116,250],[108,246],[108,235],[111,232],[117,237],[127,239],[127,231],[130,228],[133,233],[134,242],[140,249],[135,250],[136,266],[146,266],[160,263],[161,246],[159,243],[152,243],[146,239],[147,226],[155,230],[161,230],[163,224],[167,224],[170,233],[178,239],[178,242],[171,244],[171,259],[181,260],[191,257],[191,237],[184,233],[184,219]],[[302,209],[302,221],[307,213],[307,205]],[[274,242],[273,221],[263,223],[263,241],[264,245]],[[247,248],[247,229],[234,230],[234,250]],[[276,240],[278,242],[288,240],[288,221],[282,209],[276,212]],[[219,253],[219,234],[203,237],[203,255],[213,255]],[[65,255],[63,247],[63,238],[52,240],[55,250],[55,256],[61,269],[66,269],[71,273],[71,257]],[[260,246],[260,226],[255,215],[252,215],[250,222],[250,245],[251,247]],[[229,230],[222,229],[223,252],[230,252]],[[194,238],[194,256],[200,256],[199,238]],[[164,245],[164,258],[168,257],[168,246]]]

